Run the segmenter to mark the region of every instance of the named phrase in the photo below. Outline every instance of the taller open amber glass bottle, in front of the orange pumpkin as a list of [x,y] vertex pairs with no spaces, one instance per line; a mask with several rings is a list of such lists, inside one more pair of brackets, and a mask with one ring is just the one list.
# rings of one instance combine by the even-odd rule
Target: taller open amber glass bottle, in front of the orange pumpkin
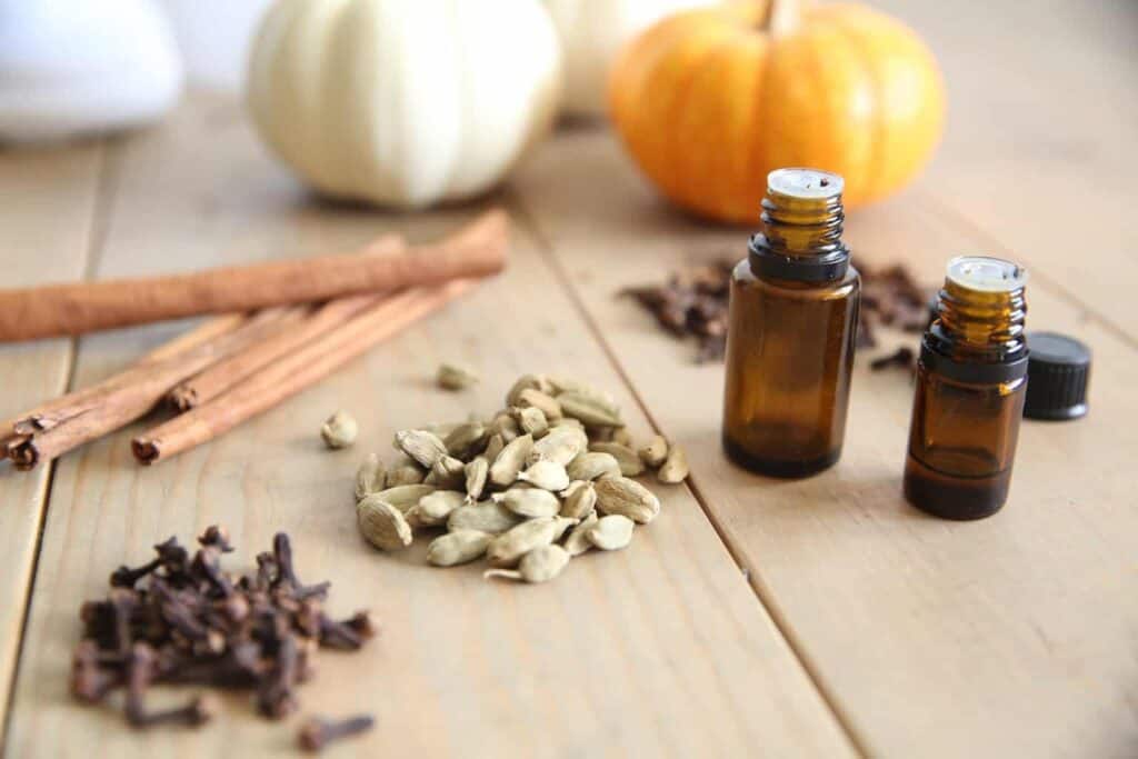
[[772,172],[732,277],[723,443],[754,472],[806,477],[842,452],[860,280],[841,192],[836,174]]

